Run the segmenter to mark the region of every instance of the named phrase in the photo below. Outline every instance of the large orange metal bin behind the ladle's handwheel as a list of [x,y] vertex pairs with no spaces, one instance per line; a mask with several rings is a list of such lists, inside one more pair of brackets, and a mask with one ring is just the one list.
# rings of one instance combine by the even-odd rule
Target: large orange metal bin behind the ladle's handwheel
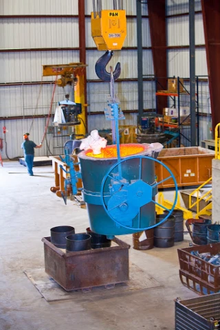
[[[164,148],[159,153],[158,160],[172,171],[177,186],[197,186],[212,177],[212,159],[214,151],[200,146],[186,148]],[[155,164],[157,181],[168,177],[168,171],[159,163]],[[173,179],[168,179],[159,188],[174,187]]]

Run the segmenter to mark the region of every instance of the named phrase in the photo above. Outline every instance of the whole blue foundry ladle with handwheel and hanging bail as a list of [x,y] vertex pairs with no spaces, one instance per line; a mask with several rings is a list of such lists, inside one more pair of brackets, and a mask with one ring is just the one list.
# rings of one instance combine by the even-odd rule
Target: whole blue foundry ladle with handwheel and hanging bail
[[[118,120],[124,119],[124,115],[120,110],[119,100],[115,98],[112,69],[110,87],[109,107],[104,110],[104,114],[106,119],[112,122],[113,144],[116,144],[117,157],[89,157],[82,151],[78,154],[80,173],[74,171],[72,163],[73,165],[69,166],[69,174],[73,177],[73,192],[76,192],[78,177],[83,180],[83,199],[87,203],[91,230],[113,239],[115,235],[133,234],[166,221],[177,202],[177,183],[170,169],[155,159],[158,155],[156,151],[149,157],[148,148],[144,147],[144,151],[137,155],[121,157]],[[69,151],[72,153],[73,149],[74,147],[69,148]],[[66,155],[67,162],[69,159]],[[167,177],[159,182],[155,179],[155,163],[160,164],[167,173]],[[155,201],[157,186],[169,179],[173,179],[175,184],[175,200],[171,210]],[[155,204],[168,211],[159,223],[155,221]]]

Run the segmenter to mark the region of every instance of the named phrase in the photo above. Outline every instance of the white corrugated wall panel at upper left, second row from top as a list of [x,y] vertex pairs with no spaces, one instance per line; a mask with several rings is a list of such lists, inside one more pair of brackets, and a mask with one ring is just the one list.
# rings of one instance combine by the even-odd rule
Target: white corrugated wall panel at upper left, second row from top
[[77,18],[2,19],[1,48],[78,47]]

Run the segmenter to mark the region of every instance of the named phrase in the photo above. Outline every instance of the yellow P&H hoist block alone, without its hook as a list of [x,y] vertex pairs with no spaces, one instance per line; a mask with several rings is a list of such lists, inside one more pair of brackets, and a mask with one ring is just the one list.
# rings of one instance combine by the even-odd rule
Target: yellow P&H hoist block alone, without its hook
[[91,36],[98,50],[121,50],[126,38],[125,10],[91,12]]

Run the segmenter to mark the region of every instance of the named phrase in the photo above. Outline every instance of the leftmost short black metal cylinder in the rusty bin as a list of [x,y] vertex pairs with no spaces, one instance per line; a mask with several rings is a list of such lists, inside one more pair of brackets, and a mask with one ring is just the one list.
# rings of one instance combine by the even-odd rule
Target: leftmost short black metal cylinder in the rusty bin
[[71,225],[58,225],[50,230],[50,241],[57,248],[65,249],[67,245],[66,236],[75,234],[75,228]]

